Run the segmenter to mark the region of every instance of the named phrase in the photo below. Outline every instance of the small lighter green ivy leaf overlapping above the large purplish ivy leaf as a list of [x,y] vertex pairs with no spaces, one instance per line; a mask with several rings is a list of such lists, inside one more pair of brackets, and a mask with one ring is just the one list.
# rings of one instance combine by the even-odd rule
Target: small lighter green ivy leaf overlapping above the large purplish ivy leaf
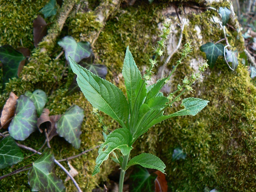
[[25,96],[28,96],[34,102],[37,114],[40,116],[48,101],[47,94],[43,90],[38,89],[33,93],[26,91]]

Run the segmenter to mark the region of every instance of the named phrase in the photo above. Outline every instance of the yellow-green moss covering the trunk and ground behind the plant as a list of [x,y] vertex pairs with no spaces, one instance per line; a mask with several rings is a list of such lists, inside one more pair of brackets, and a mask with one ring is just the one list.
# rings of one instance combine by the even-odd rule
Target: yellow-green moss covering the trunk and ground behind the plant
[[[1,18],[13,19],[15,15],[20,15],[15,18],[19,25],[6,28],[6,35],[1,38],[0,44],[11,44],[17,48],[20,46],[19,39],[22,38],[23,46],[32,49],[32,20],[36,18],[45,2],[23,1],[20,3],[17,1],[16,4],[19,9],[15,10],[13,14],[12,12],[2,12],[2,9],[11,9],[10,6],[13,6],[9,1],[6,2],[6,6],[1,7]],[[124,90],[123,80],[120,79],[118,82],[113,79],[122,71],[126,47],[130,47],[137,65],[142,70],[142,67],[148,64],[148,59],[152,56],[151,47],[156,43],[155,35],[159,30],[157,24],[164,19],[160,10],[167,6],[169,3],[166,2],[160,4],[154,2],[148,5],[146,1],[137,2],[133,7],[121,6],[119,12],[112,15],[111,19],[108,20],[96,44],[94,44],[95,49],[93,51],[96,54],[96,63],[105,64],[108,67],[107,79],[122,90]],[[227,3],[216,4],[216,6],[227,6]],[[25,8],[27,10],[26,15],[23,14]],[[59,39],[64,35],[72,35],[79,41],[81,33],[85,31],[84,28],[98,30],[100,26],[97,23],[92,25],[90,20],[86,20],[85,24],[82,22],[88,14],[93,17],[91,13],[72,13]],[[195,31],[191,30],[194,29],[195,25],[200,26],[204,43],[216,42],[224,36],[218,26],[209,19],[212,15],[217,16],[214,11],[188,15],[189,28],[184,30],[183,44],[192,40],[195,51],[191,58],[204,56],[199,51],[201,45],[198,44]],[[52,22],[54,21],[52,18]],[[73,30],[66,30],[69,27]],[[240,51],[243,47],[242,41],[233,35],[231,29],[228,30],[230,30],[230,44],[236,46]],[[49,95],[47,108],[50,109],[51,115],[63,114],[67,108],[74,104],[83,108],[85,118],[81,128],[81,148],[75,150],[59,137],[55,137],[51,142],[56,159],[61,159],[79,154],[81,151],[101,143],[102,129],[90,114],[91,105],[84,99],[82,93],[66,95],[73,74],[67,70],[67,67],[64,67],[64,55],[58,60],[54,59],[61,52],[61,47],[57,44],[54,44],[53,47],[50,52],[40,52],[40,49],[33,49],[30,62],[24,67],[20,78],[12,79],[6,85],[6,93],[1,96],[0,105],[4,105],[10,91],[14,91],[20,96],[26,90],[42,89]],[[170,63],[175,63],[178,57],[179,55],[175,54]],[[177,69],[172,81],[173,84],[177,85],[185,75],[192,73],[193,70],[189,67],[189,62],[190,60],[184,61],[183,65]],[[246,67],[241,66],[241,64],[239,64],[236,72],[231,72],[223,59],[218,58],[215,66],[214,69],[210,70],[210,73],[206,73],[202,83],[196,84],[195,92],[190,95],[209,100],[208,106],[195,117],[175,117],[156,125],[141,137],[137,144],[135,143],[134,150],[132,150],[132,155],[141,151],[158,154],[166,163],[166,178],[168,178],[169,189],[172,191],[203,191],[206,186],[211,189],[216,188],[230,192],[253,191],[255,189],[254,116],[256,111],[254,105],[256,89]],[[168,112],[178,109],[178,105],[175,105]],[[118,127],[116,122],[108,117],[106,119],[109,124],[113,125],[112,129]],[[38,149],[44,143],[44,139],[42,135],[34,133],[22,143]],[[186,151],[187,158],[172,162],[172,152],[178,146]],[[24,153],[29,155],[27,151]],[[84,191],[91,191],[95,185],[99,184],[99,179],[106,180],[107,175],[111,172],[112,164],[107,161],[102,167],[101,173],[96,177],[91,177],[96,156],[97,150],[94,150],[70,161],[79,171],[79,175],[75,178]],[[37,156],[24,160],[15,165],[14,168],[4,169],[1,171],[1,175],[29,164],[35,158]],[[63,164],[67,168],[67,164]],[[64,172],[57,167],[56,174],[63,180],[66,177]],[[67,191],[75,190],[71,181],[65,183],[65,186]],[[25,172],[1,180],[0,191],[13,189],[16,191],[30,190]]]

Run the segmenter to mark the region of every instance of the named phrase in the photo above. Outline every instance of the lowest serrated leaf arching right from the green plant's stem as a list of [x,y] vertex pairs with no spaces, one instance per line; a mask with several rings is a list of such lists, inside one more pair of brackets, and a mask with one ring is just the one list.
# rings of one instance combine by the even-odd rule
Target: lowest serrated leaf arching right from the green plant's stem
[[140,165],[145,168],[157,169],[162,173],[165,172],[164,169],[166,168],[166,165],[162,160],[160,160],[157,156],[148,153],[142,153],[133,157],[126,166],[126,169],[133,165]]

